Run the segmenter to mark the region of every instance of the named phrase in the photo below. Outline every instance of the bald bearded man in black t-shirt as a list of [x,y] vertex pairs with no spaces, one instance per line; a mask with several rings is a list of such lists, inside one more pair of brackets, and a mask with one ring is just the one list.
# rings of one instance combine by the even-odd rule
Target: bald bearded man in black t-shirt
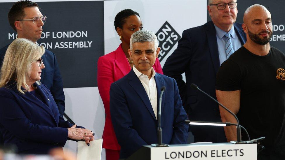
[[[269,44],[270,12],[261,5],[244,13],[246,43],[234,52],[217,73],[216,96],[239,118],[251,139],[265,136],[258,159],[285,158],[285,54]],[[237,123],[220,108],[223,122]],[[237,140],[236,127],[225,127],[228,141]],[[242,140],[247,136],[242,132]]]

